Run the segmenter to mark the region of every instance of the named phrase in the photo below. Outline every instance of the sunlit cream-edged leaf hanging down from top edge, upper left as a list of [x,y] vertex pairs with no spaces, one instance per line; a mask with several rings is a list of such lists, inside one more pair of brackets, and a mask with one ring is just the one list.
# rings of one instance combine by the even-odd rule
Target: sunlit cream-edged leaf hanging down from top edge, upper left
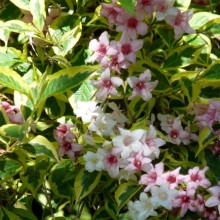
[[30,12],[33,15],[33,23],[39,31],[44,28],[46,18],[44,0],[30,0]]

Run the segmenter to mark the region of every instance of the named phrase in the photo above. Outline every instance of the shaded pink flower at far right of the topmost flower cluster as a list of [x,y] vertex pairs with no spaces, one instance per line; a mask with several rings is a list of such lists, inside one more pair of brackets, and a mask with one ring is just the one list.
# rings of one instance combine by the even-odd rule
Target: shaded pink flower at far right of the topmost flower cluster
[[165,20],[174,28],[176,39],[179,39],[184,33],[195,33],[195,30],[189,26],[189,20],[192,15],[192,10],[181,12],[177,9],[175,14],[166,16]]

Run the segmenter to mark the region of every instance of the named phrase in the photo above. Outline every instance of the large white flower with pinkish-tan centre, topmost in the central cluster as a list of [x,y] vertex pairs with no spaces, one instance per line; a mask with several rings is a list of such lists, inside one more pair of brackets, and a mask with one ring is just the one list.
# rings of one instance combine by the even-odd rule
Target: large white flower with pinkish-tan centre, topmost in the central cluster
[[114,153],[121,153],[121,157],[126,159],[132,152],[137,153],[142,148],[140,142],[141,137],[144,134],[144,130],[136,129],[134,131],[125,130],[119,128],[121,135],[112,139],[114,145]]

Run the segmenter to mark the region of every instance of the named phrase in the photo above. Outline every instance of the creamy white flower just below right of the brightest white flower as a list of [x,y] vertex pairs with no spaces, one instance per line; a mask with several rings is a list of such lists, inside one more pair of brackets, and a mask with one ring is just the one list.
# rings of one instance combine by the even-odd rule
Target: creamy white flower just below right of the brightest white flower
[[113,128],[117,124],[111,118],[111,114],[99,114],[95,121],[91,122],[88,129],[95,131],[99,136],[111,136],[113,134]]

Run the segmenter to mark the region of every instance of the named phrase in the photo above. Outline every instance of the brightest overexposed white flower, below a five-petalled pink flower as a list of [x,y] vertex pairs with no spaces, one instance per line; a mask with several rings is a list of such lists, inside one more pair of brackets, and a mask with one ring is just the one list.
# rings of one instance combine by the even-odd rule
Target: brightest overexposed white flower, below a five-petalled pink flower
[[95,101],[77,101],[76,108],[74,108],[73,112],[77,117],[82,118],[84,123],[89,123],[99,115],[101,108],[97,106],[97,102]]

